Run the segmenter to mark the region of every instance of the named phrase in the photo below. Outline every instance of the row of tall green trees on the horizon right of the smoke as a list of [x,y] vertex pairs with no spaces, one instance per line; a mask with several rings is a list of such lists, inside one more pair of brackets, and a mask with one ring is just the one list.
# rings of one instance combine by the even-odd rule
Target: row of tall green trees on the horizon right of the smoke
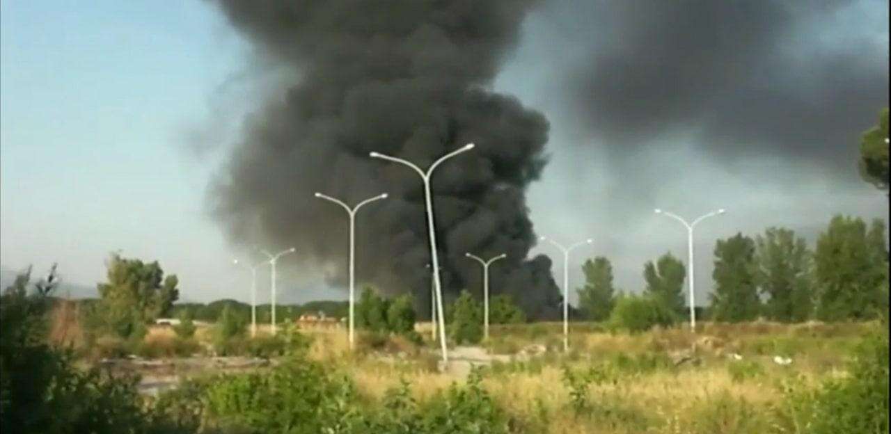
[[[723,322],[887,316],[886,239],[884,222],[867,224],[842,215],[830,221],[813,249],[804,237],[783,228],[769,228],[754,237],[738,233],[719,239],[713,291],[703,316]],[[687,315],[686,269],[671,253],[644,264],[642,295],[614,287],[612,266],[605,257],[586,261],[582,270],[585,285],[577,291],[587,319],[649,316],[653,324],[664,324]]]

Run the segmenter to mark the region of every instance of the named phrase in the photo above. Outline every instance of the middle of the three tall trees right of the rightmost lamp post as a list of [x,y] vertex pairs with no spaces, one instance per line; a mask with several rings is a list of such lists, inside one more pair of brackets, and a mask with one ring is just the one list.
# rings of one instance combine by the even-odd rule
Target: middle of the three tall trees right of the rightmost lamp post
[[755,239],[756,277],[767,297],[764,311],[775,321],[800,322],[813,310],[813,254],[791,229],[769,228]]

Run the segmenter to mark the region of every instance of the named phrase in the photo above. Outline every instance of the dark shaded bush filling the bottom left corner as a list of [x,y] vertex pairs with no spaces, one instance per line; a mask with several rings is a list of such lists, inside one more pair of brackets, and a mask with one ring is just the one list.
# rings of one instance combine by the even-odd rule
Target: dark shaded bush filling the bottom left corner
[[29,292],[28,273],[0,296],[0,430],[18,433],[134,434],[192,432],[145,410],[135,376],[73,366],[69,353],[46,343],[53,271]]

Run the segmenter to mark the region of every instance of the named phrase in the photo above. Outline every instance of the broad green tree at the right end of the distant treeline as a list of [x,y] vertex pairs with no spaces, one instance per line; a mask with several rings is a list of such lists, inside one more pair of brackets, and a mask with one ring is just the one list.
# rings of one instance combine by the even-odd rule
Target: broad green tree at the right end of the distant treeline
[[822,320],[866,319],[887,309],[885,224],[838,215],[817,239],[816,315]]

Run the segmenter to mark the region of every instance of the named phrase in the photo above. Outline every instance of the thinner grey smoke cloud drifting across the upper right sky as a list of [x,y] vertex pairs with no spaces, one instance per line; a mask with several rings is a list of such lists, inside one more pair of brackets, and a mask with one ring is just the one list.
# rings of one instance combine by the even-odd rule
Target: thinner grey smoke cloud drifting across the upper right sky
[[850,172],[859,134],[887,106],[887,2],[573,5],[593,17],[596,42],[568,94],[619,157],[683,131],[725,163],[756,155]]

